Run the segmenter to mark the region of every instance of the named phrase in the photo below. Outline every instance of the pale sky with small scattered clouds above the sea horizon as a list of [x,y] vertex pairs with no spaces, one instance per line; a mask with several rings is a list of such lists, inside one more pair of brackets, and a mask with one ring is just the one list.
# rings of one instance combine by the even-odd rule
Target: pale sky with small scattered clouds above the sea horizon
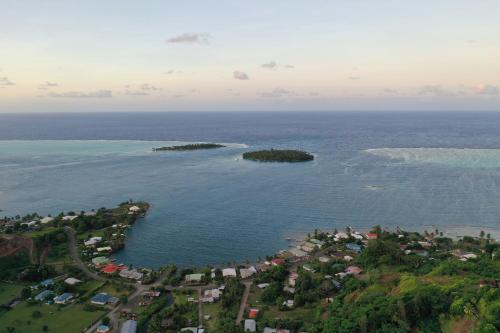
[[0,112],[500,111],[498,0],[1,0]]

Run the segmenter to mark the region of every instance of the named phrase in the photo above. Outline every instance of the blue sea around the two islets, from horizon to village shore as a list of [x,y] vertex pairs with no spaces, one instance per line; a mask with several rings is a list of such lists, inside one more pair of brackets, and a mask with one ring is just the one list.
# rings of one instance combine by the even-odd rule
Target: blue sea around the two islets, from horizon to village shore
[[[212,151],[158,145],[220,142]],[[299,148],[301,164],[241,160]],[[374,224],[500,228],[500,114],[129,113],[0,115],[3,215],[152,203],[120,261],[256,259],[287,235]]]

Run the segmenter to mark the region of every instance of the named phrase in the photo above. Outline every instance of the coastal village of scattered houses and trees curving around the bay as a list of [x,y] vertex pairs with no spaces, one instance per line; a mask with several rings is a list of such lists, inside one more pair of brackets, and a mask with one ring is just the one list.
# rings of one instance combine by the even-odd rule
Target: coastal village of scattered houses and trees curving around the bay
[[[468,237],[463,243],[467,246],[457,246],[464,239],[454,242],[439,230],[421,235],[378,226],[369,232],[347,227],[315,230],[290,248],[253,264],[182,269],[169,265],[155,271],[117,263],[112,253],[124,246],[127,228],[147,209],[145,203],[128,202],[111,211],[22,222],[25,234],[47,237],[57,231],[54,239],[64,235],[64,241],[52,241],[51,247],[65,244],[67,251],[62,262],[61,258],[52,262],[45,258],[44,265],[50,269],[38,283],[29,287],[26,283],[0,284],[0,301],[7,309],[0,316],[3,325],[8,325],[1,328],[62,332],[68,327],[58,328],[51,324],[53,319],[64,323],[68,316],[78,316],[71,326],[75,332],[308,332],[304,329],[314,329],[317,320],[327,318],[335,298],[345,289],[373,280],[373,272],[367,274],[373,268],[367,264],[367,253],[373,251],[370,246],[381,244],[381,237],[397,244],[397,249],[390,249],[397,252],[390,254],[388,262],[398,258],[420,266],[432,265],[438,258],[475,262],[484,256],[484,244],[496,244],[489,235]],[[103,214],[109,219],[97,223]],[[3,231],[13,225],[4,221]],[[498,276],[479,279],[477,288],[483,287],[498,288]],[[14,290],[10,298],[5,292],[9,289]],[[41,330],[32,330],[36,325]]]

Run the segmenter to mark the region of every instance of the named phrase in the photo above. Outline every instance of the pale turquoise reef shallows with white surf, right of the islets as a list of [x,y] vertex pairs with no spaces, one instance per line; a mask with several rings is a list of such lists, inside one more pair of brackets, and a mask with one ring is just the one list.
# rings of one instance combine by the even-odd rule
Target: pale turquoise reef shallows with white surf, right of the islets
[[463,168],[500,167],[500,149],[376,148],[365,152],[403,163],[432,163]]

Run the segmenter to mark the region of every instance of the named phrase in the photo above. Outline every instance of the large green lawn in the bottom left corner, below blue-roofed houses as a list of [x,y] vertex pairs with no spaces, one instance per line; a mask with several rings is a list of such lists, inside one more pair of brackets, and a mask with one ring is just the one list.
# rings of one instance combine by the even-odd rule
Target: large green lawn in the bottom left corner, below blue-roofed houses
[[[81,332],[104,311],[83,311],[81,304],[73,304],[57,310],[55,305],[28,305],[22,302],[0,317],[0,331],[15,327],[16,333],[42,332],[44,325],[51,333]],[[33,311],[40,311],[40,318],[33,318]]]

